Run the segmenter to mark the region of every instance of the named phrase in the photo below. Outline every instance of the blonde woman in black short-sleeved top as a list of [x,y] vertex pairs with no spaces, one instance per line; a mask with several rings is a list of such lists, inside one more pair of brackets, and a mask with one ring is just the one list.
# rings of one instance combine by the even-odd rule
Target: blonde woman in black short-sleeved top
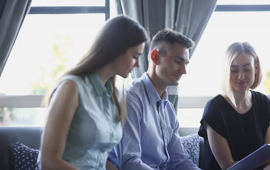
[[223,93],[207,102],[199,130],[203,170],[225,170],[270,143],[270,99],[252,90],[262,78],[257,53],[247,42],[233,43],[224,65]]

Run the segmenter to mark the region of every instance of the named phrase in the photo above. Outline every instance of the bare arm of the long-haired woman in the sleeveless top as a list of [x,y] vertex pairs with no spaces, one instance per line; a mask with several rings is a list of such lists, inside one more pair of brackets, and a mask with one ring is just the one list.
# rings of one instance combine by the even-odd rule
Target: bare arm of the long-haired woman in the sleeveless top
[[42,170],[78,170],[62,159],[67,133],[79,107],[79,90],[70,80],[62,82],[49,105],[47,122],[41,141]]

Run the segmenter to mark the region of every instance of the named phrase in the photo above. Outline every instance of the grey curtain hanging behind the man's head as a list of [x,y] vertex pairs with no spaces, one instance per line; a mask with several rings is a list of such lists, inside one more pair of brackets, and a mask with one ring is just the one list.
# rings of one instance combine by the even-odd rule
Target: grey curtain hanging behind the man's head
[[[181,32],[198,44],[205,26],[215,10],[217,0],[116,0],[118,14],[134,18],[148,31],[149,37],[163,28]],[[190,57],[195,47],[189,51]],[[146,45],[140,67],[133,77],[140,77],[148,68],[149,45]],[[169,86],[169,101],[178,109],[178,86]]]

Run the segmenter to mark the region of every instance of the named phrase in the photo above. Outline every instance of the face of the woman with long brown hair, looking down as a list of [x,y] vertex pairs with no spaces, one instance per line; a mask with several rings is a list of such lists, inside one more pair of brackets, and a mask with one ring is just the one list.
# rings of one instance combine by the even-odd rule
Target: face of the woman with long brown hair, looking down
[[141,43],[135,47],[129,48],[124,54],[118,56],[113,65],[116,74],[127,78],[134,67],[139,67],[139,56],[142,54],[145,43]]

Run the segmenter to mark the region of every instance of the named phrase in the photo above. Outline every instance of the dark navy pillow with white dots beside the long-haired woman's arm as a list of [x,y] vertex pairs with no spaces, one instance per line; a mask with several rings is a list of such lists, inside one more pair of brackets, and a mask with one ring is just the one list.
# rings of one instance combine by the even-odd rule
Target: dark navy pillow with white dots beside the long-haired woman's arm
[[38,170],[36,163],[38,152],[22,143],[12,144],[14,170]]

